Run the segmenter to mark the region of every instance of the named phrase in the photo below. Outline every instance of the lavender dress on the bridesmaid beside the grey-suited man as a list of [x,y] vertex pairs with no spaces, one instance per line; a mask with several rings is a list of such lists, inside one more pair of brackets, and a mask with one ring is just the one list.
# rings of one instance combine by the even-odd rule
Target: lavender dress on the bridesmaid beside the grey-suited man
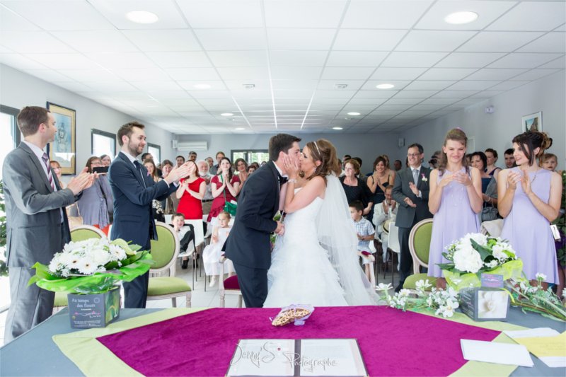
[[[462,173],[466,168],[461,168]],[[454,174],[444,170],[444,174]],[[439,176],[437,182],[443,177]],[[446,247],[455,240],[466,236],[467,233],[478,233],[480,221],[478,214],[472,211],[466,186],[456,181],[450,182],[442,190],[440,207],[434,214],[432,222],[432,237],[430,239],[429,272],[432,277],[441,277],[442,271],[437,263],[448,263],[442,256]]]

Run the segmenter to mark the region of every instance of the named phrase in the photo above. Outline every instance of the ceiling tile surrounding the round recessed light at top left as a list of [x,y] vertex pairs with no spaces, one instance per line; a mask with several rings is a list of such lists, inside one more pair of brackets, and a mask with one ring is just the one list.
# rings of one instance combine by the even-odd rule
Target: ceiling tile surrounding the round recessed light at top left
[[[120,30],[130,29],[179,29],[187,28],[171,0],[88,0],[96,10]],[[149,11],[158,16],[156,23],[134,23],[126,18],[126,13],[137,10]],[[64,11],[63,11],[64,12]]]

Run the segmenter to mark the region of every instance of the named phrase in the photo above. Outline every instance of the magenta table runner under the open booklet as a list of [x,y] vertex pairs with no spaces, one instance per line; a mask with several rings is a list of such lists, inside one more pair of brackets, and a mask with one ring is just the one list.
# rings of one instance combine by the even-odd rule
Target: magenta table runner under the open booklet
[[225,376],[241,339],[356,338],[371,376],[446,376],[466,363],[460,340],[499,331],[386,306],[316,308],[304,326],[274,327],[278,309],[213,308],[98,337],[145,376]]

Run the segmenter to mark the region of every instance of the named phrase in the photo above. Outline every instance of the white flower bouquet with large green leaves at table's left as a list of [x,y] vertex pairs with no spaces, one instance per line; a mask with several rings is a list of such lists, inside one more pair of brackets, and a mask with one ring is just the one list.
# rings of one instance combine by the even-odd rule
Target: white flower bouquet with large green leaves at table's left
[[100,294],[117,282],[131,282],[149,271],[153,263],[149,251],[125,240],[91,238],[71,241],[56,253],[48,266],[35,263],[35,275],[28,285],[69,294]]

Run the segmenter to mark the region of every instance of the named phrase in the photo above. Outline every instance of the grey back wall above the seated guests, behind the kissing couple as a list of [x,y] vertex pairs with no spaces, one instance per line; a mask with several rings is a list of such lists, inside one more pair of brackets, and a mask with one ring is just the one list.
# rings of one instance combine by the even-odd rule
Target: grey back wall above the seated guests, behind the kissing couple
[[[336,147],[338,158],[345,154],[362,158],[362,172],[371,171],[374,160],[380,154],[394,156],[397,153],[397,136],[394,134],[296,134],[301,138],[301,148],[308,141],[328,139]],[[221,135],[178,135],[178,141],[207,141],[207,151],[197,151],[198,159],[208,156],[214,158],[216,152],[223,151],[231,156],[232,149],[267,149],[272,134],[221,134]],[[187,158],[189,151],[179,151]],[[393,164],[393,161],[391,161]]]

